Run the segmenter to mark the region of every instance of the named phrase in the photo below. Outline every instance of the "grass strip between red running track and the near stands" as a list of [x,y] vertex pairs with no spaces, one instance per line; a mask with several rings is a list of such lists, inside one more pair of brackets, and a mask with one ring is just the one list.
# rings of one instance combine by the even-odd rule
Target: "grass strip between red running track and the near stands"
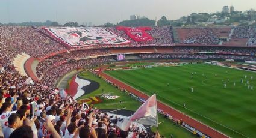
[[[134,100],[134,98],[131,98],[124,92],[119,91],[119,89],[114,88],[114,86],[108,84],[98,76],[95,76],[94,74],[90,73],[89,71],[83,71],[82,73],[78,74],[80,77],[86,78],[86,79],[91,79],[95,80],[96,82],[100,83],[100,88],[97,89],[96,91],[83,95],[79,99],[83,98],[89,98],[93,97],[95,95],[100,95],[102,94],[102,89],[106,93],[111,93],[113,95],[118,95],[120,98],[117,98],[116,100],[105,100],[102,98],[102,103],[95,104],[95,107],[98,107],[99,109],[122,109],[123,107],[126,107],[127,110],[137,110],[139,106],[141,105],[139,101]],[[119,104],[119,101],[122,100],[122,104]],[[170,137],[172,134],[173,137],[195,137],[192,133],[189,131],[185,130],[184,128],[180,127],[179,125],[173,125],[173,122],[164,118],[161,115],[158,115],[158,122],[162,122],[161,124],[158,125],[158,130],[160,131],[160,134],[163,135],[164,137]],[[155,131],[156,128],[152,127],[152,130]]]

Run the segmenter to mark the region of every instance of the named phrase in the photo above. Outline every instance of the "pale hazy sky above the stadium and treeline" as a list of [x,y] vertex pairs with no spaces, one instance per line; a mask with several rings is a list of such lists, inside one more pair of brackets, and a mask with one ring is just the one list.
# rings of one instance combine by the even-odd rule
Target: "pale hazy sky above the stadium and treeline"
[[215,13],[224,5],[235,11],[256,9],[255,0],[0,0],[0,23],[57,21],[104,25],[130,15],[176,20],[190,13]]

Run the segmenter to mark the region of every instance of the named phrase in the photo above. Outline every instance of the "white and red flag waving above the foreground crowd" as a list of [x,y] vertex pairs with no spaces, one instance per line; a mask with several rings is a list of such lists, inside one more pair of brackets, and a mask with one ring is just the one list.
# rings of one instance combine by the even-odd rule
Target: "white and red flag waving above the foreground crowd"
[[157,126],[157,99],[155,94],[149,97],[133,115],[128,118],[120,118],[116,125],[126,131],[133,122]]

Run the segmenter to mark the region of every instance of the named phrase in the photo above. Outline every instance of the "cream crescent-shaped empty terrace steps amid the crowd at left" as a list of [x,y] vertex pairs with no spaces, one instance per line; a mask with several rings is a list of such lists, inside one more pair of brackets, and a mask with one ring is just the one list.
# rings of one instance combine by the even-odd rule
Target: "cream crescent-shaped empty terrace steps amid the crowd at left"
[[21,53],[16,55],[13,60],[14,67],[23,76],[28,76],[24,68],[25,62],[27,61],[28,58],[30,58],[30,55],[27,55],[26,53]]

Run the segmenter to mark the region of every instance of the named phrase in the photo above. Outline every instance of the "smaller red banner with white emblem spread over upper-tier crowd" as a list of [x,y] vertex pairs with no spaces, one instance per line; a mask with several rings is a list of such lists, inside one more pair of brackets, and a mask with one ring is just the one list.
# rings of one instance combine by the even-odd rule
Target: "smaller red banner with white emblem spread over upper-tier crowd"
[[137,27],[137,28],[130,28],[130,27],[123,27],[117,26],[117,30],[125,31],[126,34],[132,38],[134,41],[152,41],[153,37],[149,35],[146,31],[151,31],[151,27]]

